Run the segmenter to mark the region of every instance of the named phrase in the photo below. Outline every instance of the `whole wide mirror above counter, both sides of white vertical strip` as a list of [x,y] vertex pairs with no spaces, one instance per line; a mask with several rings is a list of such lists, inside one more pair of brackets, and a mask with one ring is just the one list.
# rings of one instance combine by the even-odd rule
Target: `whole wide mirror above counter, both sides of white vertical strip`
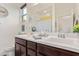
[[27,32],[73,33],[79,12],[74,3],[27,3]]

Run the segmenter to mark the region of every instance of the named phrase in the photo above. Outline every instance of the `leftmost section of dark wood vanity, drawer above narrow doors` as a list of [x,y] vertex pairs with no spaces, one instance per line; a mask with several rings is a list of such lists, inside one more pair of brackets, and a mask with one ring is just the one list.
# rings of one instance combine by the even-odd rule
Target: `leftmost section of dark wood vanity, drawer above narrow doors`
[[15,40],[15,56],[26,56],[26,40],[16,38]]

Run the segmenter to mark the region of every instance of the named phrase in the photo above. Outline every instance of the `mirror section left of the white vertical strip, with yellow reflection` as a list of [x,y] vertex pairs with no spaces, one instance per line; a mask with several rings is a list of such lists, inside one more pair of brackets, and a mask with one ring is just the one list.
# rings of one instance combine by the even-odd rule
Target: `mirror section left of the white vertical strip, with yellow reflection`
[[30,31],[52,32],[52,5],[49,3],[27,4]]

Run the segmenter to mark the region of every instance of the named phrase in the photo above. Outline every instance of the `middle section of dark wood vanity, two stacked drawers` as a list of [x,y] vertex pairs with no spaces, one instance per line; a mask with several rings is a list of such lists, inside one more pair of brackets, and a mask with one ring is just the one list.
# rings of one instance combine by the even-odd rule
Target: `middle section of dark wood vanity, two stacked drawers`
[[28,56],[37,55],[37,43],[32,41],[27,41],[27,55]]

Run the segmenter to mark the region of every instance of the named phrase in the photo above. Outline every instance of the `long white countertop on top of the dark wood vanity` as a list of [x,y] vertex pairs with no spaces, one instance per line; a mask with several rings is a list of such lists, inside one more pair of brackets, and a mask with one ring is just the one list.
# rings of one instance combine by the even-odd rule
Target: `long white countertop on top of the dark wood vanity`
[[34,39],[32,35],[16,35],[16,37],[79,53],[79,39],[77,38],[55,38],[50,36],[48,38]]

